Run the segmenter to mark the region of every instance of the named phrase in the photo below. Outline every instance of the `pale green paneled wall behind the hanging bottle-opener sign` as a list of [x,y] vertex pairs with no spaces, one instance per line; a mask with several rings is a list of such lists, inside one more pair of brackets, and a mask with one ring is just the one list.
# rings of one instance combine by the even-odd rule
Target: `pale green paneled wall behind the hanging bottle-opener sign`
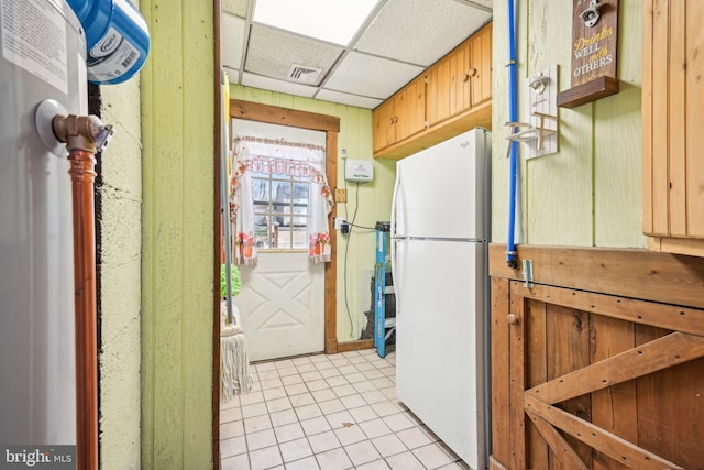
[[[518,102],[528,120],[527,77],[553,64],[570,88],[572,2],[516,1]],[[493,240],[508,226],[507,2],[494,2]],[[641,233],[641,2],[619,6],[618,95],[560,108],[560,152],[526,161],[521,149],[517,241],[531,244],[645,247]]]

